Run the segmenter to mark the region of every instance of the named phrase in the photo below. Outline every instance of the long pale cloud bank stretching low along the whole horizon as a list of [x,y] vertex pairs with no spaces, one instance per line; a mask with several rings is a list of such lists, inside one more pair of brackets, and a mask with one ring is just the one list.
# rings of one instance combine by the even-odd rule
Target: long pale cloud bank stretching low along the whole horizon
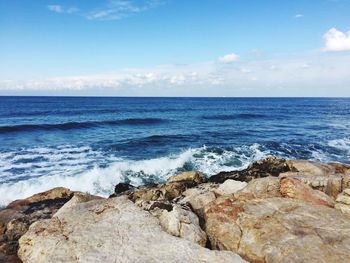
[[[350,55],[216,61],[95,75],[0,80],[0,94],[125,96],[350,96]],[[283,87],[283,88],[281,88]]]

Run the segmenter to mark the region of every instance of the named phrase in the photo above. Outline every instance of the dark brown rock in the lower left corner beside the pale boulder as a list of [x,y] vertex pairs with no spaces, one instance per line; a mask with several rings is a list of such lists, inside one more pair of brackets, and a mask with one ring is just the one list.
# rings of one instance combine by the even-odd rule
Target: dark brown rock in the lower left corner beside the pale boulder
[[18,239],[29,226],[40,219],[51,218],[71,199],[74,192],[58,187],[10,203],[0,211],[1,262],[17,262]]

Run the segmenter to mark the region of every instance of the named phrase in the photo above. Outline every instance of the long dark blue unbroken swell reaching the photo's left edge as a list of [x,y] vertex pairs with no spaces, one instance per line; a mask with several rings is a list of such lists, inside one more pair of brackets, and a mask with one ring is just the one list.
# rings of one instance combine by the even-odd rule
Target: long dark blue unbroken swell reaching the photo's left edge
[[71,130],[94,128],[104,125],[156,125],[166,123],[168,120],[160,118],[129,118],[120,120],[65,122],[55,124],[20,124],[12,126],[0,126],[0,133],[37,131],[37,130]]

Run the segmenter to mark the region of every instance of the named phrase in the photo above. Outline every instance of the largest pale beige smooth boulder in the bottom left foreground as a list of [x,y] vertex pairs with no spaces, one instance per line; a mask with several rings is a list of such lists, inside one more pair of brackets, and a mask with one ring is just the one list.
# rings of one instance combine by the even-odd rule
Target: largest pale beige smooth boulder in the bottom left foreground
[[31,225],[19,241],[24,263],[245,262],[164,232],[125,196],[92,200]]

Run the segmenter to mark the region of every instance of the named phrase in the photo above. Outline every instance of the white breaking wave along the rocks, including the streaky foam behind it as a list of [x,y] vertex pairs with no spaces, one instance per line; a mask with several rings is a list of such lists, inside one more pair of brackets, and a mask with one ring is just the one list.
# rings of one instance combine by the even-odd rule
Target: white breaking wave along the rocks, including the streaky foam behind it
[[[268,155],[269,151],[259,144],[231,149],[203,146],[139,161],[106,157],[89,147],[36,148],[15,157],[13,154],[0,156],[4,162],[0,171],[0,205],[58,186],[108,196],[119,182],[142,185],[164,182],[182,171],[199,170],[213,175],[224,170],[239,170]],[[37,162],[26,164],[26,158],[36,158]],[[14,175],[6,167],[28,172]]]

